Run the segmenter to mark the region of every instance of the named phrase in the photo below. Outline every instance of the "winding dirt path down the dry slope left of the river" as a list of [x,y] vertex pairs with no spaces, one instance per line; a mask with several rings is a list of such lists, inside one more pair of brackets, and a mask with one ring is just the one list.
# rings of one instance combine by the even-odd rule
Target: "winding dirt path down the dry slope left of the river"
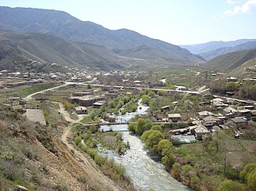
[[[79,115],[78,120],[73,120],[71,117],[69,117],[69,114],[66,110],[64,110],[64,106],[62,103],[59,103],[60,109],[59,112],[63,115],[64,119],[71,124],[78,123],[80,120],[82,120],[82,116]],[[71,131],[71,124],[68,126],[68,128],[64,129],[63,134],[61,135],[61,142],[64,143],[65,146],[67,146],[68,150],[71,150],[75,157],[77,157],[80,161],[82,161],[84,170],[86,170],[86,173],[90,175],[90,178],[92,178],[94,181],[97,181],[101,186],[105,186],[106,190],[122,190],[121,188],[117,187],[115,182],[112,181],[112,179],[106,177],[102,174],[101,171],[99,171],[96,167],[94,167],[88,158],[85,157],[84,153],[82,153],[79,150],[76,150],[72,144],[68,142],[68,135]]]

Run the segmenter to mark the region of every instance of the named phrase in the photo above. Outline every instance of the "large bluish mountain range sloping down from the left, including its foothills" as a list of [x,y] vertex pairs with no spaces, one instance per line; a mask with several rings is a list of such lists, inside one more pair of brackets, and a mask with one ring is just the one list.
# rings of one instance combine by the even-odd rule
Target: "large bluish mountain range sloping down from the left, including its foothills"
[[2,67],[27,58],[101,70],[205,62],[177,45],[127,29],[112,31],[56,10],[0,7],[0,31],[6,44],[1,46]]

